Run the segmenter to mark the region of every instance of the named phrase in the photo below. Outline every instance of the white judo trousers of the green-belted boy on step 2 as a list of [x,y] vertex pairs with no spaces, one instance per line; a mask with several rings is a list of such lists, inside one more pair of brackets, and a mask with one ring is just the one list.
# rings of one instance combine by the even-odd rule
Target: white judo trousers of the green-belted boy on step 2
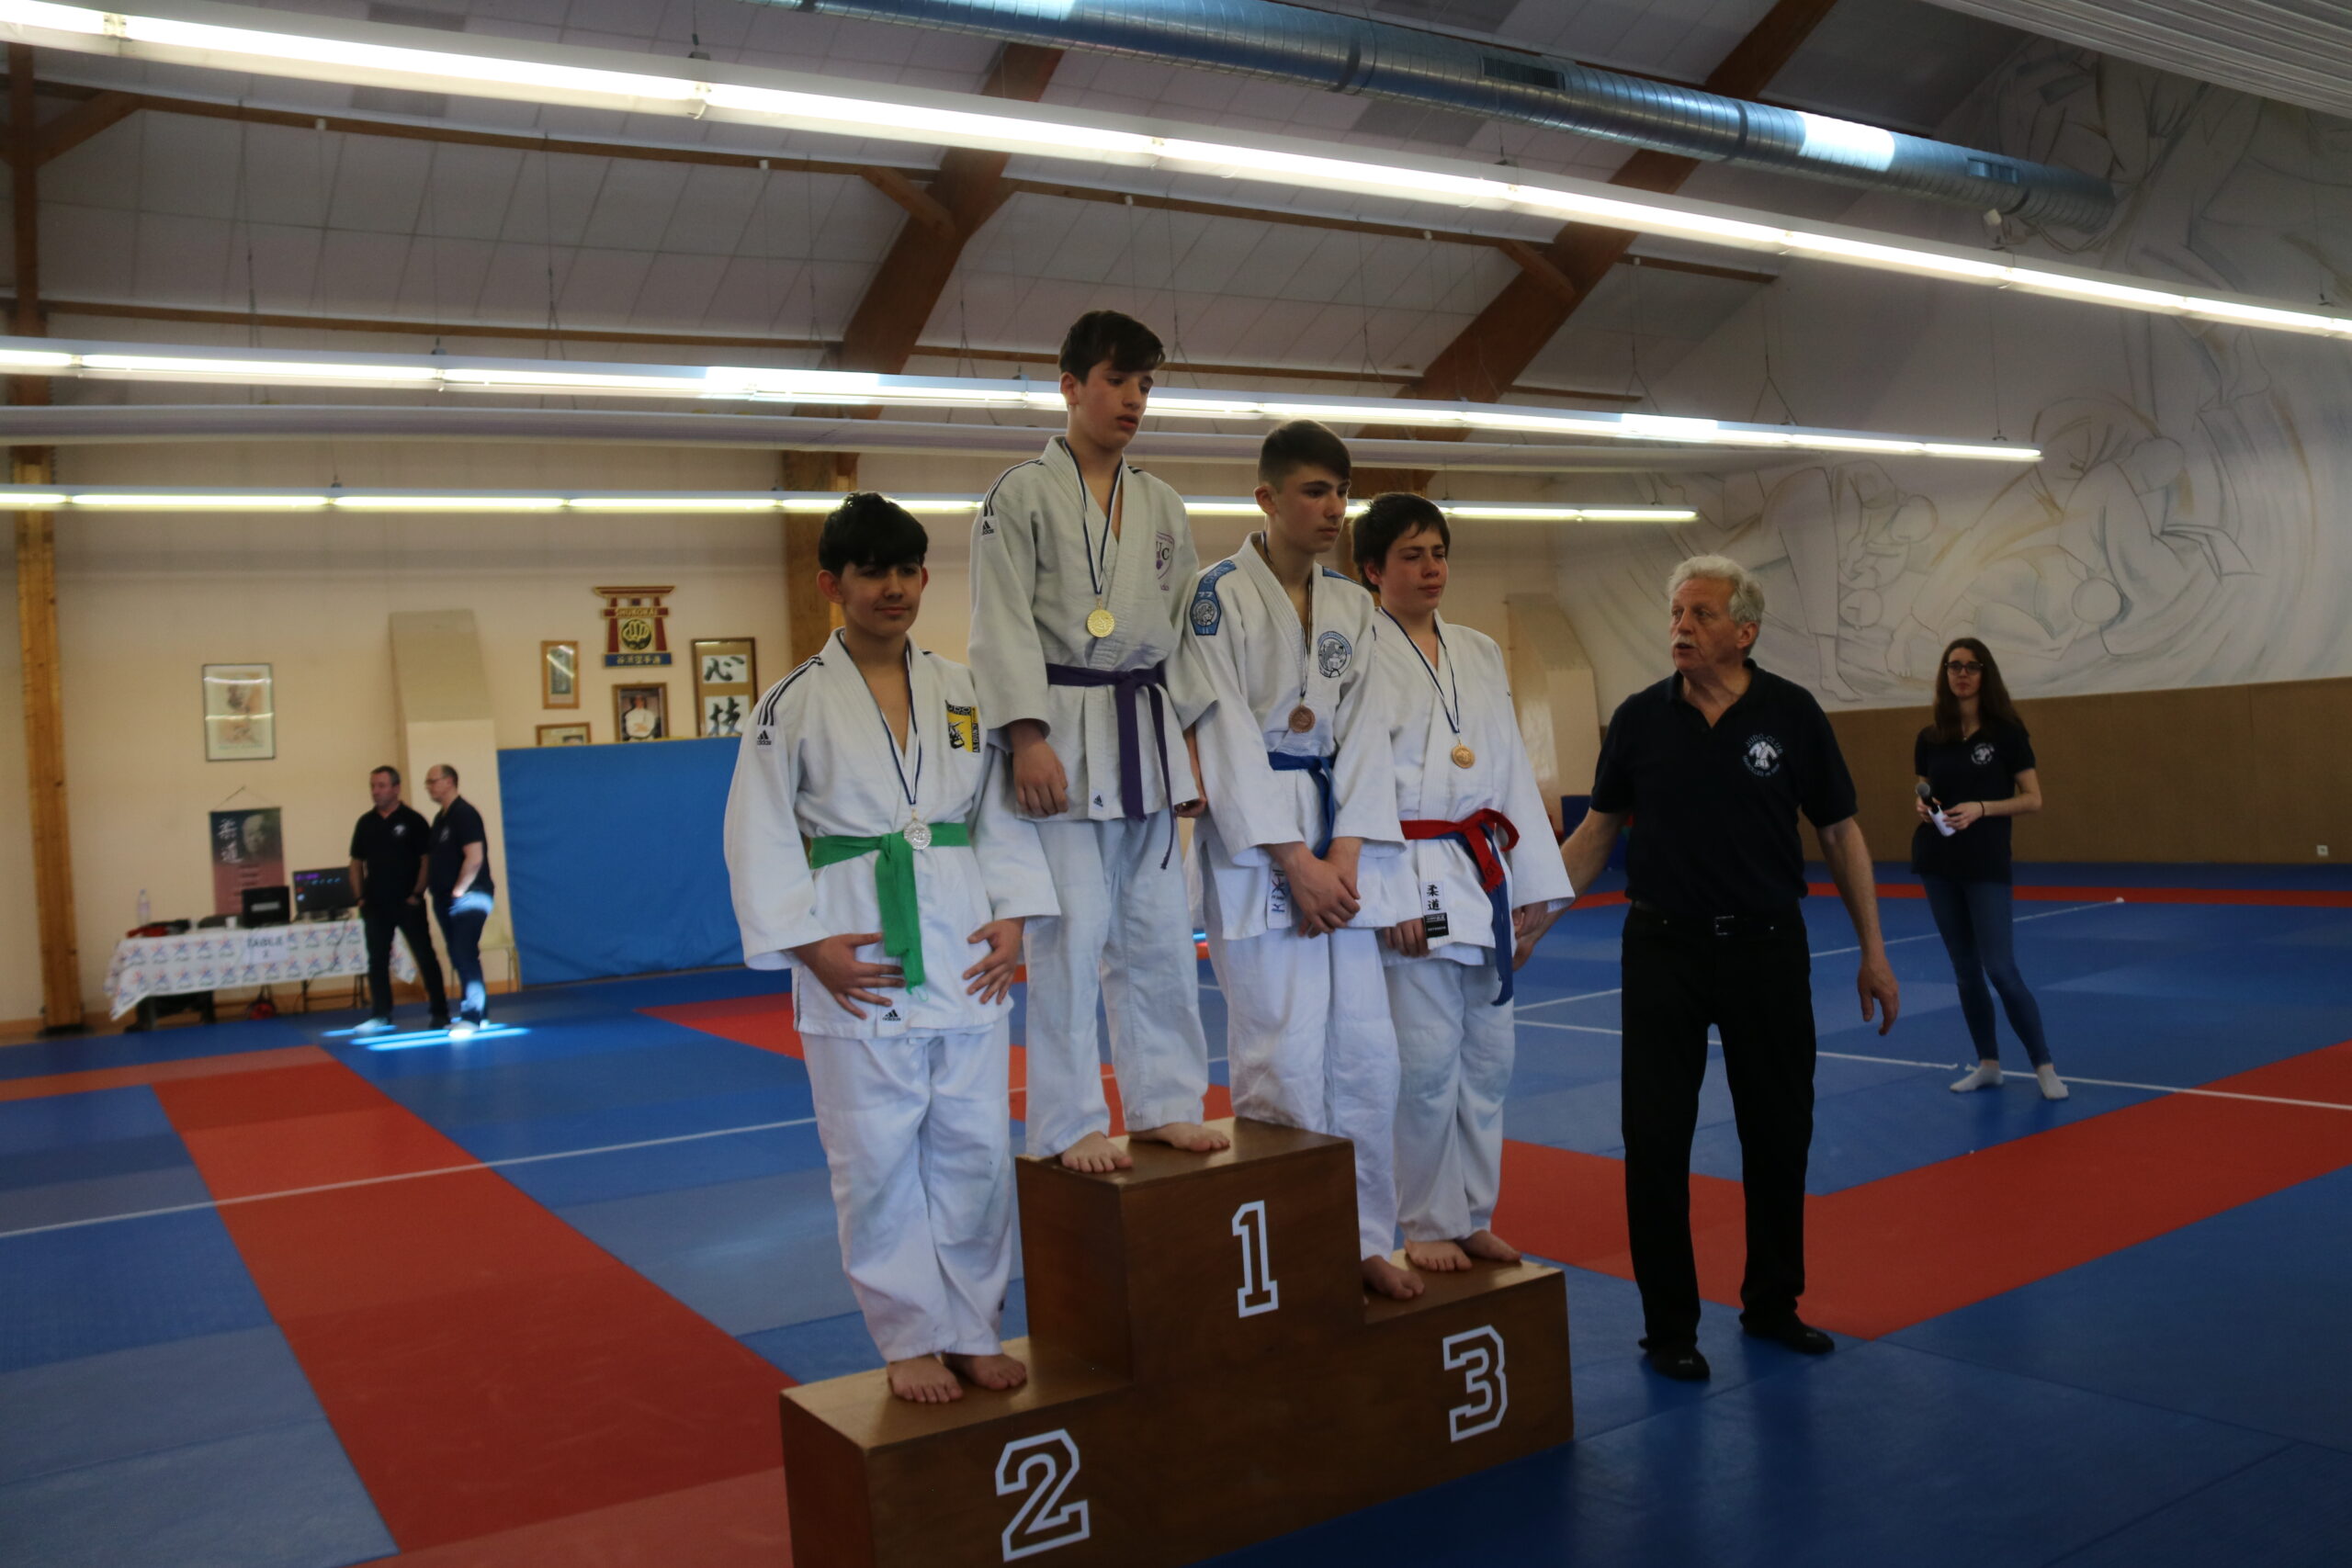
[[997,1354],[1014,1267],[1007,1023],[807,1034],[842,1269],[884,1361]]

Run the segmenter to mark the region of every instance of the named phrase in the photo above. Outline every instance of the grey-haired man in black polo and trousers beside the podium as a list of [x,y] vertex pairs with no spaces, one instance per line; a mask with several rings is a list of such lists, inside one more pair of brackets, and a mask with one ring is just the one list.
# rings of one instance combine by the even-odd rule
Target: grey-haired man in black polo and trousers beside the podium
[[1625,1225],[1642,1286],[1642,1347],[1668,1378],[1700,1380],[1698,1267],[1691,1258],[1691,1131],[1722,1032],[1740,1131],[1748,1276],[1740,1326],[1823,1354],[1797,1316],[1804,1293],[1804,1161],[1813,1145],[1813,983],[1804,917],[1804,813],[1860,936],[1863,1018],[1896,1020],[1870,849],[1837,733],[1804,686],[1748,649],[1764,590],[1722,555],[1668,578],[1675,675],[1609,719],[1592,813],[1562,846],[1569,882],[1592,886],[1618,827],[1628,851],[1623,992]]

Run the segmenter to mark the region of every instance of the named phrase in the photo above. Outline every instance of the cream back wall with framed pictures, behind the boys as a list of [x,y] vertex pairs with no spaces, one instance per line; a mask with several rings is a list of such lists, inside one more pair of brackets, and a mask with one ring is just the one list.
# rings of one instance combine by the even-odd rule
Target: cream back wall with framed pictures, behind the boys
[[[1138,454],[1148,463],[1148,454]],[[870,489],[978,491],[988,458],[875,454]],[[1237,465],[1150,465],[1185,494],[1249,489]],[[59,449],[78,484],[310,487],[612,487],[767,489],[762,451],[614,449],[593,444],[146,444]],[[1534,498],[1536,480],[1479,480],[1475,494]],[[969,524],[931,524],[931,590],[917,637],[964,656]],[[1232,552],[1244,520],[1202,520],[1202,559]],[[205,813],[247,790],[285,811],[287,867],[341,865],[367,809],[367,771],[402,755],[393,691],[395,611],[473,611],[501,748],[534,745],[536,726],[586,719],[612,741],[616,679],[668,679],[670,712],[691,733],[694,637],[755,637],[760,679],[786,670],[783,529],[741,517],[355,517],[355,515],[71,515],[59,520],[59,644],[66,778],[80,917],[82,990],[99,987],[146,889],[158,917],[212,910]],[[1508,644],[1505,592],[1548,581],[1557,529],[1465,524],[1456,531],[1454,618]],[[602,665],[597,583],[673,583],[668,670]],[[24,820],[24,719],[14,595],[0,639],[0,802]],[[539,644],[581,644],[579,710],[539,705]],[[278,757],[205,762],[198,670],[275,670]],[[409,759],[409,797],[423,766]],[[468,769],[468,785],[473,769]],[[0,835],[0,1018],[40,1011],[38,926],[26,835]]]

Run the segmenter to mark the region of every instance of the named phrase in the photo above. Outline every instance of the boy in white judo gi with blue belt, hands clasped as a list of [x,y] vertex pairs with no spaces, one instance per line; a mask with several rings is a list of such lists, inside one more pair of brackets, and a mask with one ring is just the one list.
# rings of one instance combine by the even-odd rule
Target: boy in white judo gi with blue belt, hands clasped
[[1265,531],[1192,592],[1185,661],[1214,693],[1195,736],[1209,816],[1192,846],[1232,1110],[1355,1143],[1364,1284],[1404,1300],[1421,1279],[1388,1260],[1397,1034],[1376,931],[1411,910],[1359,891],[1364,858],[1399,858],[1404,835],[1371,595],[1319,567],[1348,512],[1348,447],[1312,421],[1268,435]]

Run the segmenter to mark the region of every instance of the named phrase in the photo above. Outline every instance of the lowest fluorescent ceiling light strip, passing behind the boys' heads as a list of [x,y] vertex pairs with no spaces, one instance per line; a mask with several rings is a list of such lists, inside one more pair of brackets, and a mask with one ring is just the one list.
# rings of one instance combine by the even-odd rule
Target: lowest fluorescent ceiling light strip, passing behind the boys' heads
[[[974,512],[981,505],[976,494],[910,494],[891,496],[910,512]],[[118,512],[221,512],[221,510],[273,510],[273,512],[830,512],[842,503],[840,491],[515,491],[485,489],[468,496],[449,491],[407,489],[336,489],[336,491],[275,491],[275,489],[216,489],[216,491],[160,491],[129,487],[66,487],[35,489],[31,484],[0,484],[0,510],[56,510],[99,508]],[[1362,512],[1364,501],[1350,503],[1348,512]],[[1439,510],[1451,517],[1491,522],[1696,522],[1698,512],[1677,505],[1555,505],[1543,501],[1439,501]],[[1247,496],[1209,496],[1185,501],[1195,517],[1258,517],[1258,503]]]

